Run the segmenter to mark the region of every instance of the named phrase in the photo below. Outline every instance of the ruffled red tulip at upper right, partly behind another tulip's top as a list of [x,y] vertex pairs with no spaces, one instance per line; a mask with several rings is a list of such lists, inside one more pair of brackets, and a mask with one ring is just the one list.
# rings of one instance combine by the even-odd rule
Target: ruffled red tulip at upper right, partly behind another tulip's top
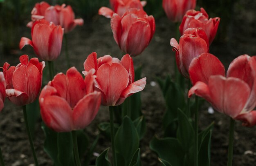
[[210,18],[206,11],[201,8],[201,11],[189,10],[183,17],[180,24],[180,34],[183,35],[184,31],[188,28],[202,28],[206,33],[209,44],[215,38],[218,27],[220,24],[220,18]]

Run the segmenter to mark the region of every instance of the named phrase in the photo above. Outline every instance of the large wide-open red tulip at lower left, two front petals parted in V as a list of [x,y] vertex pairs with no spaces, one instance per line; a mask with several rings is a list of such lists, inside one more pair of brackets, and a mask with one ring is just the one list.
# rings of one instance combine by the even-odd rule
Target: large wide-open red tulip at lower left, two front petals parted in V
[[101,93],[94,91],[95,76],[85,79],[72,67],[66,75],[58,73],[39,96],[42,119],[57,132],[70,132],[88,126],[99,111]]

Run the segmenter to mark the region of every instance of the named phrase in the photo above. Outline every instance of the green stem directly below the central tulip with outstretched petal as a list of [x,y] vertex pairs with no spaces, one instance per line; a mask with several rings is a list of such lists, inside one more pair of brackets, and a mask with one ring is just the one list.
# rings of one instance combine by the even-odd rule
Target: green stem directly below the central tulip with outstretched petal
[[110,135],[112,145],[113,166],[117,166],[116,147],[115,147],[115,133],[114,133],[114,106],[109,106],[110,119]]

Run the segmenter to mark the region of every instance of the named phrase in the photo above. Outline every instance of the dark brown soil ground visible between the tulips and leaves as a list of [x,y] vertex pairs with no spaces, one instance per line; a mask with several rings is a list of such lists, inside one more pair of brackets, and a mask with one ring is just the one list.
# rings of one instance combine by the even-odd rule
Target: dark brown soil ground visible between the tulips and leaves
[[[256,55],[256,4],[254,0],[235,5],[233,21],[229,26],[229,36],[223,42],[213,41],[210,53],[216,55],[227,67],[228,64],[238,55]],[[30,29],[19,28],[19,38],[30,37]],[[173,73],[174,53],[169,44],[170,39],[175,37],[175,27],[167,18],[156,20],[156,32],[148,48],[134,58],[135,67],[143,64],[142,76],[147,77],[147,85],[142,91],[142,108],[146,117],[147,132],[141,141],[141,160],[143,165],[159,166],[157,155],[150,150],[149,142],[153,136],[162,134],[162,117],[165,111],[164,98],[159,86],[151,86],[155,77],[164,78],[167,74]],[[95,16],[91,22],[85,22],[83,27],[76,27],[68,34],[70,62],[79,71],[83,71],[83,62],[92,52],[97,52],[98,57],[112,55],[121,58],[123,53],[115,43],[110,29],[110,20]],[[54,62],[58,72],[67,70],[63,51],[60,57]],[[28,54],[29,58],[35,56],[31,47],[26,46],[22,51],[17,49],[11,51],[10,55],[1,55],[1,64],[9,62],[11,65],[18,64],[20,55]],[[227,68],[226,68],[227,69]],[[47,72],[47,71],[45,71]],[[47,83],[45,79],[44,83]],[[209,104],[202,107],[200,111],[200,128],[203,129],[212,121],[215,122],[211,142],[211,165],[225,166],[227,162],[229,117],[218,112],[209,114]],[[108,108],[101,107],[96,119],[90,124],[85,132],[90,137],[90,142],[99,133],[97,124],[108,121]],[[38,119],[35,127],[34,144],[41,166],[51,166],[52,161],[43,151],[44,133],[40,128],[41,120]],[[7,166],[32,166],[34,161],[29,148],[29,141],[26,134],[22,108],[14,106],[6,100],[5,107],[0,114],[0,146]],[[101,153],[110,146],[110,142],[100,136],[99,144],[95,152]],[[91,164],[94,164],[92,159]],[[256,165],[256,127],[246,128],[236,122],[234,139],[234,164],[233,166],[254,166]]]

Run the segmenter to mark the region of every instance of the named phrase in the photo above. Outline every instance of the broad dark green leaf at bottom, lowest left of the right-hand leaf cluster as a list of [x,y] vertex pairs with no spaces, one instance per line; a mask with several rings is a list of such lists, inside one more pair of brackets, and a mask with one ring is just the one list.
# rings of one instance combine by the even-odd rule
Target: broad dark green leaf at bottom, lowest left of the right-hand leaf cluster
[[173,137],[159,139],[154,137],[150,142],[150,149],[155,151],[159,158],[173,166],[182,166],[184,152],[180,142]]

